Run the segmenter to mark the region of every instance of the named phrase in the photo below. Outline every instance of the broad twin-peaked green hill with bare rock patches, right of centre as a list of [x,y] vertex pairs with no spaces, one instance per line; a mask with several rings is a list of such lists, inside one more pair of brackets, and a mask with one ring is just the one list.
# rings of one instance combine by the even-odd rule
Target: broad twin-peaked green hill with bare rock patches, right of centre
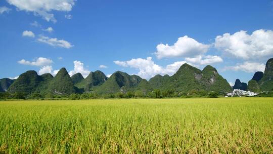
[[207,65],[202,71],[187,63],[180,66],[175,74],[156,75],[149,80],[153,89],[188,92],[190,90],[206,90],[217,92],[232,91],[229,83],[222,78],[217,70]]

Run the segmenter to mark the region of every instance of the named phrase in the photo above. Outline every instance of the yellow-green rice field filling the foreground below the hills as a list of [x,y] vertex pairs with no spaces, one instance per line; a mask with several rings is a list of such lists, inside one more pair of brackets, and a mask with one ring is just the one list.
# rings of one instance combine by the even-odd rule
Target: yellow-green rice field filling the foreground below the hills
[[0,101],[0,153],[272,153],[273,98]]

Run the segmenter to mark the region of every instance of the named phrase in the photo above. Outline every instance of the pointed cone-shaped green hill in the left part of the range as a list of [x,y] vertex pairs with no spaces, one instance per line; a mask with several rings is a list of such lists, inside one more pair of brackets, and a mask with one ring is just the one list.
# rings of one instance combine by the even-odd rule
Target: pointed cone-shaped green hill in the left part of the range
[[54,94],[72,94],[76,93],[76,88],[70,78],[67,70],[61,68],[49,85],[48,92]]

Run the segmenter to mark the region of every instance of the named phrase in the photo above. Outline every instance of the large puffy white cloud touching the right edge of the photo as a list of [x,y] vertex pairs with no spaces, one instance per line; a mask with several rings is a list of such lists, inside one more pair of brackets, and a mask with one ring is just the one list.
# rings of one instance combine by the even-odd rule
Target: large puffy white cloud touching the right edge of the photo
[[273,56],[273,31],[259,29],[251,35],[246,31],[216,36],[215,48],[236,58],[257,59]]

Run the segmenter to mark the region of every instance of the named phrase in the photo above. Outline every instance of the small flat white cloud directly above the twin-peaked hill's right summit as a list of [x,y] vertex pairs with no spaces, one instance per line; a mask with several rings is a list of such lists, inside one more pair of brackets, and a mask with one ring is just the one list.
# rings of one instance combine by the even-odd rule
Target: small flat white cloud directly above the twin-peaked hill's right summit
[[200,65],[207,65],[207,64],[212,64],[212,63],[217,63],[217,62],[223,62],[223,59],[219,56],[211,56],[207,55],[204,56],[205,59],[201,55],[196,56],[194,58],[185,58],[186,61],[195,63],[195,64],[200,64]]

